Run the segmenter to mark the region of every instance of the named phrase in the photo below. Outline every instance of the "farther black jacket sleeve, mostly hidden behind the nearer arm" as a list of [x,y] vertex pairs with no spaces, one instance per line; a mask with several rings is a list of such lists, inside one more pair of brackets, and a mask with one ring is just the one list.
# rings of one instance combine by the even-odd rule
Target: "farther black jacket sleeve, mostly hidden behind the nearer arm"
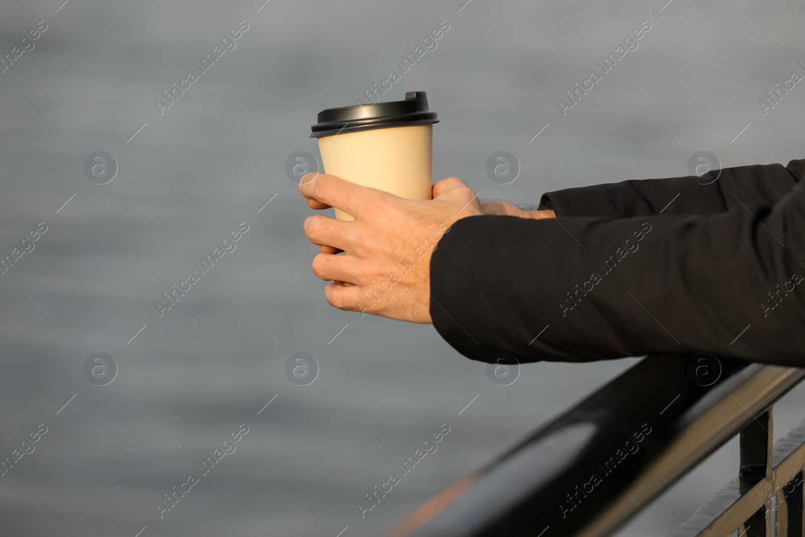
[[650,214],[712,214],[745,204],[773,205],[803,176],[805,160],[787,167],[741,166],[704,176],[629,180],[543,194],[540,209],[558,217],[628,218]]

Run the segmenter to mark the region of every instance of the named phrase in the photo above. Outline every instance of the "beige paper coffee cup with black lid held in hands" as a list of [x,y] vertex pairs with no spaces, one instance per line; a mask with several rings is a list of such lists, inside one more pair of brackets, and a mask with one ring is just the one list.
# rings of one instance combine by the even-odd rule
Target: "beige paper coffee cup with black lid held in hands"
[[[404,101],[322,110],[311,127],[324,171],[395,196],[431,199],[433,124],[425,92]],[[354,220],[335,209],[339,220]]]

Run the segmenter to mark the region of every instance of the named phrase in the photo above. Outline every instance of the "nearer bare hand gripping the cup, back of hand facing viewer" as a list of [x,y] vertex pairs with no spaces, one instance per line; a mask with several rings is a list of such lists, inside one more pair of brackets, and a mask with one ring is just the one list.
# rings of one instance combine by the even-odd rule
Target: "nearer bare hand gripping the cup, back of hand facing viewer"
[[[483,214],[477,194],[451,177],[432,200],[408,200],[336,176],[308,174],[299,192],[313,209],[337,207],[355,217],[314,215],[304,233],[321,253],[313,272],[336,308],[415,323],[431,322],[431,254],[456,220]],[[340,251],[349,255],[337,255]]]

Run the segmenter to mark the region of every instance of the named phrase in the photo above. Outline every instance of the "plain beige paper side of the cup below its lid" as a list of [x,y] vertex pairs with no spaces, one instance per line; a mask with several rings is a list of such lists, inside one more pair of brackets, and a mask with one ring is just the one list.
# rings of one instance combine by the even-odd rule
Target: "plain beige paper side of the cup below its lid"
[[[395,196],[431,199],[433,124],[359,130],[319,138],[324,171]],[[335,209],[339,220],[354,220]]]

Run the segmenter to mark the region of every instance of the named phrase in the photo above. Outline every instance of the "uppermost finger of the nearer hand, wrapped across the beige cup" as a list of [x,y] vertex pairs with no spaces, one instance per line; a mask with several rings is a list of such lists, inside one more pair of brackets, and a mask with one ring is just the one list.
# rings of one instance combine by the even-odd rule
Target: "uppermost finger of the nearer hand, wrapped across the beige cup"
[[[350,183],[340,177],[325,174],[308,174],[299,182],[299,192],[308,200],[316,200],[321,205],[341,209],[353,217],[360,217],[363,209],[382,204],[383,200],[393,197],[376,188],[362,187]],[[313,209],[323,207],[313,206]]]

